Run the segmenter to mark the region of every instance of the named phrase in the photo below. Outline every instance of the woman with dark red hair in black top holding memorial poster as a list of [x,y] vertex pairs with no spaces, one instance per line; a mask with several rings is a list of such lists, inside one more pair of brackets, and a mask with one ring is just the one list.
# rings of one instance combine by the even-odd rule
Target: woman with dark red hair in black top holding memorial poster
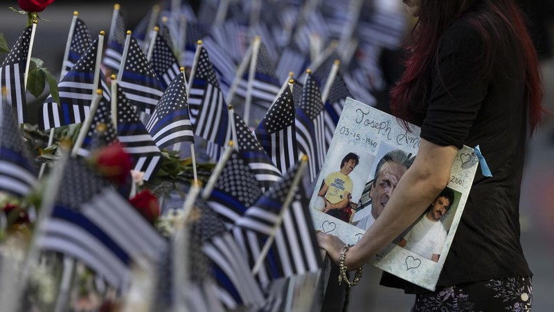
[[418,17],[406,71],[391,93],[395,116],[421,126],[422,142],[384,212],[347,253],[318,234],[335,262],[362,266],[408,228],[449,181],[463,145],[479,145],[480,170],[465,205],[437,291],[418,293],[413,311],[530,308],[530,272],[519,243],[519,187],[528,134],[537,126],[542,87],[537,55],[514,0],[403,0]]

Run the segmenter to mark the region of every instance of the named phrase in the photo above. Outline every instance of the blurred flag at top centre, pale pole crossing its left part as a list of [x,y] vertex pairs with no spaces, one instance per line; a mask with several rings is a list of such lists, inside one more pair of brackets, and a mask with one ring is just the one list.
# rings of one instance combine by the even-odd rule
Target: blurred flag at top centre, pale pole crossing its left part
[[[252,79],[251,103],[265,109],[269,108],[279,94],[281,86],[275,75],[275,64],[269,57],[265,44],[262,42],[260,42],[260,51],[258,52],[256,62],[256,73],[254,73]],[[236,91],[236,94],[243,99],[247,97],[248,80],[249,73],[246,71]]]

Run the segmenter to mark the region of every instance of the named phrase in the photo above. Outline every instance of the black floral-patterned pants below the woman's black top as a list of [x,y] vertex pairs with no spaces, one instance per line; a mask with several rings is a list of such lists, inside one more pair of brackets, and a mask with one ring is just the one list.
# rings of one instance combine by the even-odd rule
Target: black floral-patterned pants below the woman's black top
[[531,311],[531,277],[490,279],[459,284],[415,296],[412,312]]

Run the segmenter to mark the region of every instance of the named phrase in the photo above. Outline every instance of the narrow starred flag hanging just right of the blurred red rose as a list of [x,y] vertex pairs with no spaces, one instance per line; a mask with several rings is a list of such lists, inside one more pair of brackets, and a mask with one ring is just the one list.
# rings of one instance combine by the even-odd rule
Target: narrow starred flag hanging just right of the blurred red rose
[[144,180],[149,181],[161,165],[160,149],[125,97],[123,90],[119,86],[117,88],[118,140],[125,152],[131,155],[134,169],[144,172]]

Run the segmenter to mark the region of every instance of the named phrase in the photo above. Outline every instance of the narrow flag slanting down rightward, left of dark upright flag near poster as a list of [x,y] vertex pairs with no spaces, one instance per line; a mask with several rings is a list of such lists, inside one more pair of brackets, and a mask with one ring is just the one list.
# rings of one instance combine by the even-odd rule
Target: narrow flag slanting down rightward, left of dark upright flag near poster
[[242,120],[242,117],[238,113],[233,113],[233,115],[237,132],[238,152],[247,161],[262,189],[274,185],[282,176],[280,170],[275,167],[271,158],[267,156],[262,145],[260,145],[256,136],[252,134],[246,122]]

